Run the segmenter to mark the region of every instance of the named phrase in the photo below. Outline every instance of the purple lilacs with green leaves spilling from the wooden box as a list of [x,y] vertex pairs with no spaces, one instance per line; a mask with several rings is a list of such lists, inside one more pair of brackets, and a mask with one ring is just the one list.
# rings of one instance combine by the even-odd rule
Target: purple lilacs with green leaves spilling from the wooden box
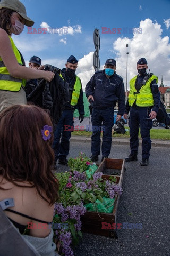
[[60,201],[55,204],[53,222],[67,224],[66,228],[54,230],[61,242],[62,255],[73,255],[72,245],[76,245],[82,237],[81,216],[86,213],[84,205],[96,204],[96,201],[103,203],[103,197],[114,198],[122,193],[114,178],[103,179],[101,172],[88,176],[86,170],[92,164],[81,152],[76,159],[69,159],[70,172],[55,174],[60,183]]

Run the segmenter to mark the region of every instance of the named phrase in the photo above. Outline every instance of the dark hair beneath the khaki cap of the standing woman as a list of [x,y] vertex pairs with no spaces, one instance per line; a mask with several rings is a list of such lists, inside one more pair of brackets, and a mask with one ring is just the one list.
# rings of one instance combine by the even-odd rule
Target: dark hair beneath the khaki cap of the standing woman
[[0,28],[3,28],[8,35],[11,35],[11,14],[13,10],[2,8],[0,9]]

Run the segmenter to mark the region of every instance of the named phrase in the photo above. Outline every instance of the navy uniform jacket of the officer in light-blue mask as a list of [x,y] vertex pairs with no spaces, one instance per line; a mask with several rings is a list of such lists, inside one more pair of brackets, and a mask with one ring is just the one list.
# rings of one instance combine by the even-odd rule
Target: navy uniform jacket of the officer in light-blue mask
[[94,108],[107,109],[115,107],[118,102],[118,115],[124,114],[125,91],[122,77],[114,73],[106,77],[105,69],[97,71],[86,85],[86,97],[94,97]]

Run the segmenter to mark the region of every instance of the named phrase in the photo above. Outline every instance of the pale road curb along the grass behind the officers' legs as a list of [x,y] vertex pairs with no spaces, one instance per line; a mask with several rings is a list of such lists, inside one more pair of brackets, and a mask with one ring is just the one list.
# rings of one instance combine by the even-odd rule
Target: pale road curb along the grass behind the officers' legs
[[[90,137],[81,137],[81,136],[72,136],[70,138],[71,142],[83,142],[83,143],[91,143]],[[142,140],[139,140],[139,145],[141,146]],[[113,145],[130,145],[129,138],[112,138]],[[167,140],[154,140],[152,139],[152,147],[166,147],[170,148],[170,141]]]

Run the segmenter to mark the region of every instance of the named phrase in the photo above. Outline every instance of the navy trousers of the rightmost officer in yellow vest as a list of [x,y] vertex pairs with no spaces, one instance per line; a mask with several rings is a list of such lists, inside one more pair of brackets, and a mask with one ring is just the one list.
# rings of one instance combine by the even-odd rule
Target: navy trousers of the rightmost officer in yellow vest
[[150,156],[151,139],[150,129],[152,128],[152,120],[149,118],[150,107],[131,107],[130,109],[130,148],[131,154],[138,152],[139,146],[139,126],[142,137],[142,158],[148,159]]

